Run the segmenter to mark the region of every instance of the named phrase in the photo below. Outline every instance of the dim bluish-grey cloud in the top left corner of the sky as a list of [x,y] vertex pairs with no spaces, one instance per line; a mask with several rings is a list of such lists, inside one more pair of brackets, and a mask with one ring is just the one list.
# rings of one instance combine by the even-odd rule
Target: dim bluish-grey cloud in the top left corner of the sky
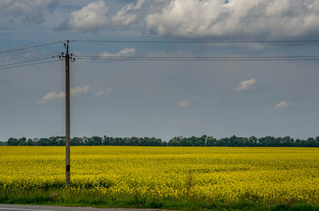
[[43,23],[44,11],[53,11],[58,0],[1,0],[1,23]]

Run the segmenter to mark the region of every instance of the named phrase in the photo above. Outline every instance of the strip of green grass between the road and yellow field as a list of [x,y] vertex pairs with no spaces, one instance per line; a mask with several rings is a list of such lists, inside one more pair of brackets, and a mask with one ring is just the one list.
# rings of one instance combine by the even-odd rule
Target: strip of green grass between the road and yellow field
[[268,202],[252,202],[240,200],[237,202],[209,200],[173,200],[157,198],[156,196],[107,196],[91,189],[49,188],[37,191],[12,191],[10,188],[0,192],[2,204],[34,204],[34,205],[64,205],[81,207],[134,207],[174,210],[319,210],[318,204],[306,202],[287,202],[270,204]]

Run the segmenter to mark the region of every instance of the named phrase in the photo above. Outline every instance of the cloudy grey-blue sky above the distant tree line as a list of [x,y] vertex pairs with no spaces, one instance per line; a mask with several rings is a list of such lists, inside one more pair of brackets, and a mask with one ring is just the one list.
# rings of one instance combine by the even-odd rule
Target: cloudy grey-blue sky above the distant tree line
[[65,136],[66,40],[71,137],[319,136],[319,60],[85,57],[319,56],[318,20],[319,0],[0,1],[0,141]]

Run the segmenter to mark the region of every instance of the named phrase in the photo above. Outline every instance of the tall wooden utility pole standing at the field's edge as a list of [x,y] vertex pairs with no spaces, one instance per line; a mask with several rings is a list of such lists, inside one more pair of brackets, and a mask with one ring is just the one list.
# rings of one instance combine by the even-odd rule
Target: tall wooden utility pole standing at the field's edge
[[65,186],[70,188],[70,56],[67,40],[65,54]]

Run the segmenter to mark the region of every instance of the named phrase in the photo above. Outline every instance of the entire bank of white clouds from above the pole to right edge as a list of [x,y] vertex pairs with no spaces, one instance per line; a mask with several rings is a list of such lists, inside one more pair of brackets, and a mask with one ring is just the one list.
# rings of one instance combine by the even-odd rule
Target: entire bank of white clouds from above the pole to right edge
[[319,0],[139,0],[114,15],[104,1],[96,1],[71,13],[57,30],[143,27],[159,37],[183,39],[298,39],[318,38],[318,19]]

